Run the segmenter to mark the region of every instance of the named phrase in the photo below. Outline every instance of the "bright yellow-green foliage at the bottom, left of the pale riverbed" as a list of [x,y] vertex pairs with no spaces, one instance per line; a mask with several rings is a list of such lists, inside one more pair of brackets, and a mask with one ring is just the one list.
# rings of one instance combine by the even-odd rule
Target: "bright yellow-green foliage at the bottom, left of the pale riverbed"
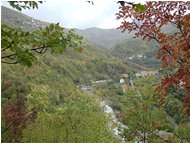
[[[40,95],[34,98],[42,100]],[[64,97],[59,107],[48,105],[52,111],[39,112],[36,122],[24,131],[22,142],[113,142],[107,128],[108,118],[94,101],[87,96],[72,95]]]

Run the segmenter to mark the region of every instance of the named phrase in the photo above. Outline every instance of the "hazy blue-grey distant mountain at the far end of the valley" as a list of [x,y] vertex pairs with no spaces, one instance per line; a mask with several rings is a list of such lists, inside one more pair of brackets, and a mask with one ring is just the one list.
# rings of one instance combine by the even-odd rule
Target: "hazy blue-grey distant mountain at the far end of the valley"
[[[162,30],[166,33],[174,33],[177,31],[176,28],[171,24],[164,26]],[[132,40],[135,36],[134,32],[129,33],[128,31],[125,31],[122,33],[121,30],[118,29],[101,29],[97,27],[92,27],[84,30],[76,29],[76,32],[79,35],[84,36],[86,39],[93,41],[107,49],[113,48],[117,44],[123,43],[125,41]],[[140,42],[137,41],[138,39],[135,40],[137,42],[136,45],[141,46],[141,44],[147,43],[141,43],[142,40]]]

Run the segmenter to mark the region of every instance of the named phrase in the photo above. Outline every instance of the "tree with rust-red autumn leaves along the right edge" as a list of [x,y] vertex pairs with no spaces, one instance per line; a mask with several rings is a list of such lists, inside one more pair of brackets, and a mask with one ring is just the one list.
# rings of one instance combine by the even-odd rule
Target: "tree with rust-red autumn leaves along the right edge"
[[[123,32],[135,31],[135,37],[156,40],[159,44],[158,59],[163,69],[173,67],[175,72],[162,79],[157,90],[161,100],[167,95],[171,85],[184,88],[186,96],[183,106],[190,115],[190,2],[146,2],[145,9],[137,10],[133,4],[121,6],[116,14],[122,19]],[[163,28],[173,26],[175,32],[166,33]]]

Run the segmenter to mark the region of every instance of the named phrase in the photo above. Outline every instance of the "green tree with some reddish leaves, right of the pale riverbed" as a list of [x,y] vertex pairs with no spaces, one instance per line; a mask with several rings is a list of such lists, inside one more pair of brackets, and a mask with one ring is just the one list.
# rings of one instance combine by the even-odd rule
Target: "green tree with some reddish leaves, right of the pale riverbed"
[[[137,83],[139,84],[139,83]],[[136,89],[126,93],[124,123],[126,139],[129,141],[157,142],[168,141],[159,134],[160,130],[168,129],[169,119],[163,109],[159,108],[158,100],[153,96],[151,84],[140,83]],[[167,132],[165,132],[167,135]],[[165,135],[165,136],[166,136]]]

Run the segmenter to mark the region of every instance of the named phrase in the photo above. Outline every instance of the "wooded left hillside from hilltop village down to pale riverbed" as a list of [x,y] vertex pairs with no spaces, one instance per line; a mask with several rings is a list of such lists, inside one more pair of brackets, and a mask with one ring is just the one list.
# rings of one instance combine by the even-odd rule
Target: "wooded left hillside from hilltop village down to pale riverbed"
[[[38,20],[5,7],[2,13],[4,24],[23,26],[25,30],[29,26],[32,31],[37,28],[31,26],[34,23],[17,23],[17,20]],[[87,40],[81,53],[70,48],[62,55],[47,52],[37,55],[31,68],[2,64],[2,142],[117,142],[107,128],[110,119],[101,111],[99,99],[77,87],[132,71],[136,69]],[[23,100],[20,109],[14,110]],[[17,124],[12,125],[14,122]]]

